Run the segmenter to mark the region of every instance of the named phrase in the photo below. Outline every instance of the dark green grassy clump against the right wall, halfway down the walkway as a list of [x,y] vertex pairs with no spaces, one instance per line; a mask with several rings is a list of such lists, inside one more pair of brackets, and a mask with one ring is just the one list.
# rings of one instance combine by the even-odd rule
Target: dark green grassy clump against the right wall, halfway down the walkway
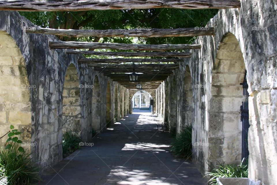
[[192,155],[192,125],[186,125],[184,129],[176,135],[171,143],[170,150],[175,156],[191,158]]

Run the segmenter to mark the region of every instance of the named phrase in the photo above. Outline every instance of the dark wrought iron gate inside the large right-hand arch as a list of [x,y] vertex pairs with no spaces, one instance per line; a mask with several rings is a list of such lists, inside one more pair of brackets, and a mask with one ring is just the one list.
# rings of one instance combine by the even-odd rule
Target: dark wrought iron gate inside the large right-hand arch
[[249,128],[249,109],[248,109],[248,84],[246,80],[246,71],[244,74],[243,83],[240,83],[243,88],[243,96],[246,97],[245,101],[242,102],[242,106],[240,106],[241,110],[241,121],[242,121],[242,159],[247,159],[249,156],[248,151],[248,128]]

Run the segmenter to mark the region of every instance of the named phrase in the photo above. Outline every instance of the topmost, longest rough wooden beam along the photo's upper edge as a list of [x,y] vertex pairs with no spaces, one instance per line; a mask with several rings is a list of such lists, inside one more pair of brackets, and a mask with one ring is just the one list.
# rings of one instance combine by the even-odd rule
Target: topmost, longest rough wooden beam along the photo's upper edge
[[82,0],[82,1],[28,1],[0,0],[0,10],[10,11],[87,11],[149,8],[225,9],[239,8],[239,0]]

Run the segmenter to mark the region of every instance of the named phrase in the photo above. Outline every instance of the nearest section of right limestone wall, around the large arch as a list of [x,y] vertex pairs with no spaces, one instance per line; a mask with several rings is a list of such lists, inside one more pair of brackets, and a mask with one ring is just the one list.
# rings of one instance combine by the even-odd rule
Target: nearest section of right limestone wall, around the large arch
[[[202,48],[191,51],[192,58],[185,60],[191,70],[192,87],[200,87],[192,88],[193,160],[202,172],[209,170],[207,160],[239,161],[238,112],[243,99],[239,83],[246,70],[250,95],[249,177],[274,184],[277,6],[273,1],[260,0],[242,0],[241,4],[239,9],[220,10],[207,24],[215,27],[215,36],[198,37],[195,43]],[[236,133],[237,140],[232,133]]]

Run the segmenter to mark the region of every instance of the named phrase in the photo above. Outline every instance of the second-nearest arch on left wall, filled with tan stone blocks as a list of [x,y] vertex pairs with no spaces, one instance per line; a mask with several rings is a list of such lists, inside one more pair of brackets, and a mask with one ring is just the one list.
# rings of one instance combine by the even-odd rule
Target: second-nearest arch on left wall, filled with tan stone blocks
[[76,67],[70,64],[63,84],[63,132],[72,130],[81,135],[80,87]]

